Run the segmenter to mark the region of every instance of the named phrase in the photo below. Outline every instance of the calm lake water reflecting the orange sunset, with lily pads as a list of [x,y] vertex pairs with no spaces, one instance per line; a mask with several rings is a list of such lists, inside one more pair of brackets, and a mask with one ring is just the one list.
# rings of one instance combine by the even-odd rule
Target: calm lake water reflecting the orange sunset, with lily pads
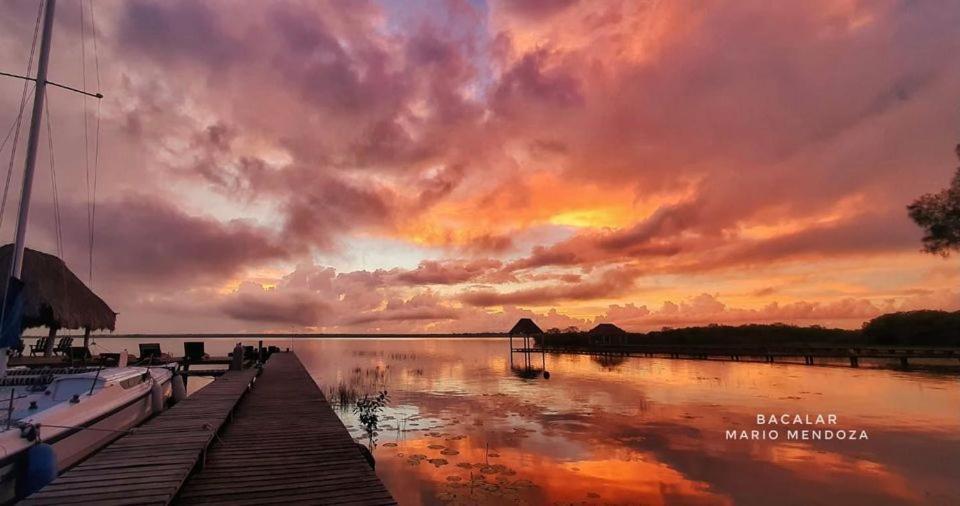
[[[388,391],[374,454],[401,504],[960,504],[956,376],[547,355],[544,379],[501,340],[293,347],[360,441],[355,396]],[[758,413],[832,413],[869,439],[791,441]]]

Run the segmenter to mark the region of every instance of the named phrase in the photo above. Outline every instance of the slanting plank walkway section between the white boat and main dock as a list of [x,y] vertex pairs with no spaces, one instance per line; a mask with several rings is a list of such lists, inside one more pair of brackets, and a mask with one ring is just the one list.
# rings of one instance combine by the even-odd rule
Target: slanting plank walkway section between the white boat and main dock
[[224,374],[20,504],[169,504],[257,373]]

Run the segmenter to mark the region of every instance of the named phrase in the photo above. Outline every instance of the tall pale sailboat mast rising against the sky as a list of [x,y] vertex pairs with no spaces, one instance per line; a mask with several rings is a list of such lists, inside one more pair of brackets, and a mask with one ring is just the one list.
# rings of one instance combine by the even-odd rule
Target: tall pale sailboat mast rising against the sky
[[20,192],[20,212],[17,214],[17,240],[13,248],[13,261],[10,263],[10,275],[18,279],[23,271],[23,248],[27,240],[27,216],[30,212],[30,193],[33,189],[33,169],[37,163],[37,146],[40,143],[43,100],[47,90],[47,63],[50,60],[50,39],[53,36],[53,11],[56,5],[57,0],[45,0],[43,33],[40,36],[40,58],[37,61],[36,88],[33,93],[33,113],[30,116],[30,137],[27,139],[23,188]]

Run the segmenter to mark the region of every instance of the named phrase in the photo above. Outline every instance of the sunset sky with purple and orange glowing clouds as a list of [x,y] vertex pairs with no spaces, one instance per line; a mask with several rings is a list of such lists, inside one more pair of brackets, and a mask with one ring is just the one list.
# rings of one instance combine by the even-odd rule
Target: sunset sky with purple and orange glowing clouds
[[[26,71],[38,6],[0,4],[0,71]],[[960,308],[960,263],[920,253],[905,210],[958,163],[954,1],[85,0],[55,19],[49,78],[105,98],[48,91],[27,242],[120,332]],[[22,91],[0,78],[0,134]]]

